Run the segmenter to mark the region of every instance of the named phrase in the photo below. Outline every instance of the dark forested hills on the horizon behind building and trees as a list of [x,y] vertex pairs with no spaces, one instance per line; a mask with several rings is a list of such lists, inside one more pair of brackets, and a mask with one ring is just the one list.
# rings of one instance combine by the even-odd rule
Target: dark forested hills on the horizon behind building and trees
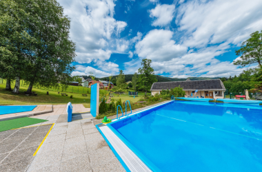
[[[125,81],[128,82],[129,80],[132,81],[133,74],[126,74],[125,75]],[[113,78],[116,78],[117,76],[113,76]],[[185,81],[187,78],[169,78],[165,76],[156,75],[157,82],[170,82],[170,81]],[[89,76],[88,76],[89,78]],[[99,78],[100,80],[109,80],[108,77]],[[190,80],[210,80],[210,79],[219,79],[219,77],[215,78],[208,78],[208,77],[189,77]]]

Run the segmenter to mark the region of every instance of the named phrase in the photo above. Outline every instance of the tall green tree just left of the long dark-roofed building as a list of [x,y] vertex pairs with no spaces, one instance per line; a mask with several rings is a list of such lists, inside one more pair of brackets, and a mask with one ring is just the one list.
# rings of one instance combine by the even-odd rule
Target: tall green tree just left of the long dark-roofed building
[[151,85],[157,82],[156,76],[154,76],[154,69],[151,67],[152,61],[147,58],[143,58],[141,65],[143,67],[139,68],[139,89],[145,91],[145,95],[150,90]]

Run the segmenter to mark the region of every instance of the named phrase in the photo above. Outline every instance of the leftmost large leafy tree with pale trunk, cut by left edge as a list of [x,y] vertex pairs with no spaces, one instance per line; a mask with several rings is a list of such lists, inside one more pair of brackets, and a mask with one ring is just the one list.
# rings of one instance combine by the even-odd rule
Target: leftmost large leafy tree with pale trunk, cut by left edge
[[11,89],[10,80],[16,79],[13,92],[17,94],[20,78],[26,74],[28,56],[33,53],[36,42],[28,34],[28,21],[32,16],[21,3],[25,1],[0,1],[0,76],[7,79],[7,90]]

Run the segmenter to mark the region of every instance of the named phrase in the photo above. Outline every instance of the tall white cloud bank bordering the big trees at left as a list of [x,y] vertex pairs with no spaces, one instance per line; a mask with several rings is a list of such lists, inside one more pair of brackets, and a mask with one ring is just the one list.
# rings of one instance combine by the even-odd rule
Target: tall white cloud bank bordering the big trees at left
[[105,61],[112,50],[108,42],[112,34],[119,36],[127,23],[114,19],[113,0],[59,0],[64,14],[70,17],[70,39],[77,43],[79,63]]

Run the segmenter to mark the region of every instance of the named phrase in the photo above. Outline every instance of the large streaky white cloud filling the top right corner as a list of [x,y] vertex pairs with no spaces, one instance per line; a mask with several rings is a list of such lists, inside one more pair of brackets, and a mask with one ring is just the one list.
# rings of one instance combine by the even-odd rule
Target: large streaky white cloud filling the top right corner
[[180,6],[176,23],[189,47],[228,41],[238,45],[262,28],[261,0],[188,1]]

